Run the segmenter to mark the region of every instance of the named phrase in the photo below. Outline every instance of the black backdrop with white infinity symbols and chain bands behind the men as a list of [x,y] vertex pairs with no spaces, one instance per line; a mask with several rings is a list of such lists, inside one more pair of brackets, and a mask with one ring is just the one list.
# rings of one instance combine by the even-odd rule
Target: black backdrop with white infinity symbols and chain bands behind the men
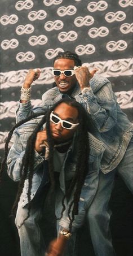
[[[73,51],[83,65],[99,68],[98,73],[111,81],[121,109],[133,121],[132,6],[132,0],[0,0],[1,159],[8,131],[15,124],[26,73],[30,68],[42,70],[32,85],[32,104],[37,106],[52,86],[52,60],[59,51]],[[17,184],[4,174],[0,186],[0,255],[19,256],[19,238],[14,220],[9,219]],[[131,256],[132,196],[119,176],[110,203],[114,248],[118,256]],[[44,223],[51,232],[52,222]],[[79,255],[88,255],[88,251],[94,255],[88,233],[79,244]]]

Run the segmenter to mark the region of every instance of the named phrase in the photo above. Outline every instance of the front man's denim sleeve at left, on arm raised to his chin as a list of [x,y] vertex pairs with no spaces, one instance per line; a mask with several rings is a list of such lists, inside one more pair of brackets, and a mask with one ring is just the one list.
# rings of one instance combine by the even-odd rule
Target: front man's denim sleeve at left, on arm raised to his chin
[[[21,163],[23,160],[25,154],[25,149],[23,145],[21,145],[19,133],[17,131],[14,132],[14,144],[11,146],[11,149],[8,153],[7,157],[7,172],[8,176],[14,181],[19,181],[20,180],[20,168],[21,168]],[[37,171],[37,167],[39,164],[43,162],[43,157],[35,151],[35,156],[34,156],[34,172]]]

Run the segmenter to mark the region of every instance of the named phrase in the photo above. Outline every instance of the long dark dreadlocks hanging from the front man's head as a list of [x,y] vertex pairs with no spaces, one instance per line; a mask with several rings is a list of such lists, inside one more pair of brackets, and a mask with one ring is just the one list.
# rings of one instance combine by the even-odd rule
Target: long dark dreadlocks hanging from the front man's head
[[[87,123],[87,113],[85,109],[82,107],[81,104],[76,102],[75,100],[72,99],[61,99],[59,102],[55,103],[55,105],[47,112],[41,112],[39,114],[34,114],[32,116],[29,116],[29,118],[26,118],[25,120],[20,121],[13,127],[8,134],[7,141],[5,144],[5,157],[2,162],[2,167],[0,170],[0,174],[2,175],[3,168],[6,163],[7,159],[7,154],[8,154],[8,143],[10,142],[12,133],[14,132],[15,128],[19,127],[20,125],[24,124],[25,122],[28,122],[29,120],[33,118],[37,118],[38,116],[43,115],[43,118],[41,121],[38,123],[37,127],[34,129],[33,133],[29,136],[26,149],[25,149],[25,154],[21,163],[21,168],[20,168],[20,183],[19,183],[19,188],[16,196],[16,200],[14,202],[14,205],[12,206],[12,213],[14,213],[17,203],[19,202],[21,193],[23,192],[23,187],[24,187],[24,181],[25,179],[28,179],[29,181],[29,187],[28,187],[28,215],[26,218],[23,220],[23,223],[26,219],[29,218],[30,214],[30,192],[32,188],[32,179],[33,179],[33,171],[34,171],[34,145],[36,142],[36,137],[37,137],[37,132],[40,131],[42,128],[42,125],[46,123],[46,131],[47,131],[47,142],[49,146],[49,157],[48,157],[48,172],[50,176],[50,185],[51,185],[51,193],[54,192],[55,190],[55,178],[54,178],[54,140],[51,136],[50,132],[50,114],[51,111],[53,111],[57,106],[59,106],[61,103],[66,103],[69,106],[75,107],[78,110],[78,122],[79,125],[76,129],[78,133],[78,140],[76,140],[77,143],[77,164],[76,164],[76,172],[75,175],[72,179],[72,182],[69,186],[69,189],[66,191],[65,196],[62,200],[62,205],[63,209],[61,211],[61,217],[63,216],[63,212],[65,210],[65,204],[64,204],[64,199],[66,197],[69,197],[70,194],[72,194],[72,191],[74,189],[74,194],[73,194],[73,200],[70,202],[69,209],[68,209],[68,217],[70,220],[69,224],[69,230],[71,231],[72,229],[72,223],[74,220],[74,216],[78,214],[78,202],[79,202],[79,197],[81,194],[81,189],[83,182],[86,177],[86,173],[88,172],[88,164],[87,164],[87,159],[88,159],[88,154],[89,154],[89,145],[88,145],[88,123]],[[44,115],[46,114],[46,115]],[[73,209],[72,209],[73,206]],[[72,213],[71,213],[72,212]],[[23,223],[21,225],[23,225]]]

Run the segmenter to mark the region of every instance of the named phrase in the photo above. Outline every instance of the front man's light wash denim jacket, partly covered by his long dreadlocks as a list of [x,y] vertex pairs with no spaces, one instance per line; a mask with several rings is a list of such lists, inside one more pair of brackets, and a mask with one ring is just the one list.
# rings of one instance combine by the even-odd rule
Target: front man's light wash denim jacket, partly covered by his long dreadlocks
[[[36,128],[40,118],[32,119],[29,122],[21,125],[19,128],[16,128],[14,131],[14,144],[12,145],[8,158],[7,158],[7,166],[8,166],[8,175],[14,181],[20,180],[20,167],[21,162],[25,153],[25,147],[28,141],[30,134]],[[85,182],[82,186],[80,201],[79,201],[79,211],[78,215],[73,222],[72,231],[75,231],[77,228],[81,227],[83,224],[83,220],[85,218],[85,213],[92,199],[94,198],[97,190],[97,186],[99,183],[99,171],[100,171],[100,162],[101,157],[104,153],[105,146],[103,142],[97,140],[92,134],[88,133],[88,140],[90,144],[90,154],[88,156],[88,173],[86,175]],[[74,134],[72,146],[69,147],[67,151],[67,155],[65,157],[63,167],[60,172],[60,186],[56,193],[56,216],[60,218],[61,210],[63,206],[61,205],[61,199],[65,194],[65,173],[75,172],[76,171],[76,162],[77,162],[77,132]],[[39,189],[48,183],[48,170],[45,167],[44,158],[35,151],[34,158],[34,174],[33,174],[33,183],[31,190],[31,200],[34,198],[35,194]],[[73,176],[73,175],[72,175]],[[28,179],[25,180],[23,193],[20,197],[20,203],[22,207],[28,203]],[[72,197],[69,199],[69,202],[72,201]],[[69,219],[68,219],[68,207],[69,202],[65,201],[66,209],[63,214],[63,218],[61,218],[59,225],[63,228],[69,228]]]

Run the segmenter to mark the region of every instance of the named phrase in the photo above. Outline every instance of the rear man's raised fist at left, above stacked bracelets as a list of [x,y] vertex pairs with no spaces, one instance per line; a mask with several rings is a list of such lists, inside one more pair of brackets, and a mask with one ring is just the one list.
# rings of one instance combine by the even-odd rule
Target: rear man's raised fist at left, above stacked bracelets
[[41,70],[39,68],[35,68],[34,70],[29,70],[25,80],[24,80],[24,88],[30,88],[30,85],[33,83],[34,80],[38,79]]

